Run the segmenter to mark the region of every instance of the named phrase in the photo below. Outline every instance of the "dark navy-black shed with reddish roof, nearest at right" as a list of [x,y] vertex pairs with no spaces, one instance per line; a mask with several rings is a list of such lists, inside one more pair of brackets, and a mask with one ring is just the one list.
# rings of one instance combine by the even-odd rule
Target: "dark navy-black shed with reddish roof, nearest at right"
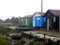
[[56,29],[59,30],[59,17],[60,17],[60,10],[48,10],[44,14],[45,22],[46,22],[46,28],[49,29]]

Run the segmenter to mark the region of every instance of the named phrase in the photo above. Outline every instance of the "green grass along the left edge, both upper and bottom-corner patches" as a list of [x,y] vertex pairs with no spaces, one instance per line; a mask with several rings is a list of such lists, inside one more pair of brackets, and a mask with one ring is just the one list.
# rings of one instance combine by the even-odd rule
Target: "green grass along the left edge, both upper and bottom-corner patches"
[[4,35],[9,35],[10,33],[17,33],[18,31],[15,29],[5,28],[5,26],[0,25],[0,45],[12,45],[12,42],[4,37]]

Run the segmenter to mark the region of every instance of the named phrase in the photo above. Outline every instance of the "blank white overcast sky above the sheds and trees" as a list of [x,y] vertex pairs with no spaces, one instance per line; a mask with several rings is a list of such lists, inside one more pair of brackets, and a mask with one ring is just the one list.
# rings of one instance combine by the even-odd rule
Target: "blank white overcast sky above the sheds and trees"
[[[25,16],[41,11],[41,0],[0,0],[0,19]],[[59,9],[60,0],[43,0],[43,12]]]

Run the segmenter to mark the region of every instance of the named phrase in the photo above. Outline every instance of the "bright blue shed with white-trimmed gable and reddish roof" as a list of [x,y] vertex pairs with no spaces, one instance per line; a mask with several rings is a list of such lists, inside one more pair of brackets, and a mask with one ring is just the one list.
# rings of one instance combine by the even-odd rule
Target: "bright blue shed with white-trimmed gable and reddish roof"
[[32,17],[32,26],[33,27],[44,27],[44,13],[35,12]]

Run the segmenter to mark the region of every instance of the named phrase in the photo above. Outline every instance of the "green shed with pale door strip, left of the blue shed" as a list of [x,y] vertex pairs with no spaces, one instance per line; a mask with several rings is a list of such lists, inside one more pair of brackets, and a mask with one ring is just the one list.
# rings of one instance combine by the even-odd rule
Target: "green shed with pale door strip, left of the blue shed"
[[21,25],[31,27],[32,26],[32,15],[26,15],[26,16],[22,17]]

